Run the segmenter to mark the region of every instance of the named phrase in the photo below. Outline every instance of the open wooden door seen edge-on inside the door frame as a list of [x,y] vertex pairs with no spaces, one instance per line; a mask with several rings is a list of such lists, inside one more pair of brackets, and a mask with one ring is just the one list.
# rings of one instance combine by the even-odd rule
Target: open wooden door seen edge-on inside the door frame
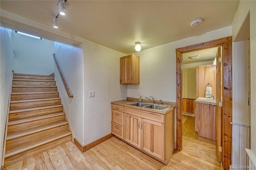
[[221,57],[221,47],[218,47],[218,51],[216,54],[216,63],[217,63],[217,67],[216,67],[216,103],[217,103],[217,107],[216,107],[216,149],[217,149],[217,157],[218,157],[218,161],[221,162],[221,153],[222,153],[222,133],[221,133],[221,118],[222,118],[222,106],[220,106],[220,102],[222,103],[222,94],[223,94],[223,85],[222,85],[222,59],[219,60],[219,58]]

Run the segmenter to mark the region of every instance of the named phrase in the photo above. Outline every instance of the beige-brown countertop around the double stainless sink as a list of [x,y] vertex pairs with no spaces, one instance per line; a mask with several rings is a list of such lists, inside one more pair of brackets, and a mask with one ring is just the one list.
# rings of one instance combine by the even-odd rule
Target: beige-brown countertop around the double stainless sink
[[[166,105],[166,106],[170,106],[170,107],[168,109],[163,110],[163,111],[129,105],[131,103],[136,103],[136,102],[138,102],[138,101],[127,99],[127,100],[120,100],[120,101],[112,101],[111,104],[120,105],[120,106],[124,106],[124,107],[130,107],[130,108],[134,108],[134,109],[138,109],[138,110],[142,110],[142,111],[149,111],[149,112],[153,112],[153,113],[159,113],[159,114],[163,114],[163,115],[165,115],[169,111],[172,111],[173,109],[175,109],[175,103],[174,103],[174,106],[173,106],[173,102],[171,102],[170,105]],[[143,103],[148,103],[148,102],[145,102],[145,101],[142,101],[142,102]]]

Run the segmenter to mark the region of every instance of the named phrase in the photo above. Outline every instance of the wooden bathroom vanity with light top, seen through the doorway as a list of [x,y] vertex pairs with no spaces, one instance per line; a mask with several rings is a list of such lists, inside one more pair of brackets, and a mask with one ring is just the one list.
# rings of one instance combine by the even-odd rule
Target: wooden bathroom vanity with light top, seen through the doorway
[[198,136],[216,140],[216,101],[210,98],[196,99],[195,130]]

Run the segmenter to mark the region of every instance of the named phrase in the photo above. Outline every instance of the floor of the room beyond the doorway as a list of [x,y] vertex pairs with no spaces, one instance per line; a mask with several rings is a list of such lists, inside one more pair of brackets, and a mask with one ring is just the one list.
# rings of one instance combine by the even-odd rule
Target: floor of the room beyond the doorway
[[218,162],[216,141],[197,135],[195,118],[182,116],[182,148]]

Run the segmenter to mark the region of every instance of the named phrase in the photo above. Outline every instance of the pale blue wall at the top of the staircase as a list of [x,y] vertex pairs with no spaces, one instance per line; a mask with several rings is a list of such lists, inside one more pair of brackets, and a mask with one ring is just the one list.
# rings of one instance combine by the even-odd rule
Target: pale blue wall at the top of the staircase
[[54,42],[39,40],[21,34],[12,34],[14,72],[23,74],[50,75],[54,72]]

